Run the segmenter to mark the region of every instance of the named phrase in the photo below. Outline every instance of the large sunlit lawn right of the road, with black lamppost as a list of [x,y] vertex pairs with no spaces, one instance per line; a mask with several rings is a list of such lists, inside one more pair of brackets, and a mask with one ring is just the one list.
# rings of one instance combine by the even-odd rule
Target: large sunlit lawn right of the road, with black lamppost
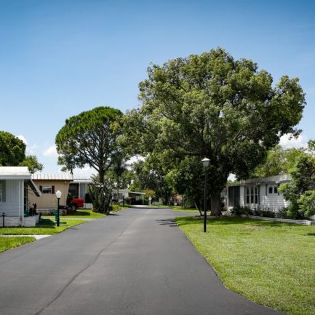
[[288,314],[315,314],[315,226],[176,218],[225,286]]

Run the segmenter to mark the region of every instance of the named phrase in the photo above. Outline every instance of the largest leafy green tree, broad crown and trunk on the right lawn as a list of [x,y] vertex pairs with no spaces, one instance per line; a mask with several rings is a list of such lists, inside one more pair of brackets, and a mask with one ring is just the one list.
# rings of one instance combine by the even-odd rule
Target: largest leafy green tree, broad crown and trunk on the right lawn
[[274,86],[255,62],[234,60],[221,48],[153,65],[139,86],[142,107],[127,114],[125,140],[136,140],[142,154],[208,157],[212,214],[220,214],[229,173],[247,177],[280,136],[299,134],[299,79],[283,76]]

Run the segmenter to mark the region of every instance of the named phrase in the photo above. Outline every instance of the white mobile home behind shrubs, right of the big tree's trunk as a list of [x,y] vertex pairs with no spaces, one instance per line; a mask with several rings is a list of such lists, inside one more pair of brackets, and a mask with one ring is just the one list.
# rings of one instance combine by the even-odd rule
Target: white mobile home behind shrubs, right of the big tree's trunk
[[288,175],[260,177],[227,186],[227,209],[233,207],[268,208],[277,211],[288,207],[288,201],[278,191],[280,184],[290,181]]

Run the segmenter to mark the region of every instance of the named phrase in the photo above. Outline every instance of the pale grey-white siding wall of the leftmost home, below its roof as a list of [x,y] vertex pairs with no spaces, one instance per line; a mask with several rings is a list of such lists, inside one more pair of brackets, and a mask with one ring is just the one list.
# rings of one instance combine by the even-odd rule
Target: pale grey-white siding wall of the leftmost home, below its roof
[[5,201],[0,202],[0,214],[7,216],[23,215],[23,179],[5,180]]

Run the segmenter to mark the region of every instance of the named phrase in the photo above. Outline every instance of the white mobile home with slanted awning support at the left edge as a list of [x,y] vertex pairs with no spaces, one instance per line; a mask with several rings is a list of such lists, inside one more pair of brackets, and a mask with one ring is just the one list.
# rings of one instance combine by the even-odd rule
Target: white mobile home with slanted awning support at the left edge
[[[26,166],[0,167],[0,216],[5,226],[34,226],[36,217],[27,217],[28,190],[39,197],[40,190]],[[3,216],[0,225],[3,226]]]

